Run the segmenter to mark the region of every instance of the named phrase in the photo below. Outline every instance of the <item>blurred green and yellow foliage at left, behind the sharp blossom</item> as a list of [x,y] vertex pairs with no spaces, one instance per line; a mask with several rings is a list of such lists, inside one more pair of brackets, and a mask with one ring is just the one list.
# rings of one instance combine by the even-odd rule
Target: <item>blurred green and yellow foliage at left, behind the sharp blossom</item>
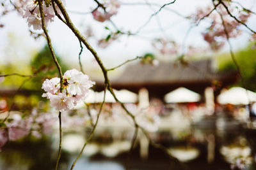
[[[67,71],[68,66],[61,60],[61,57],[56,55],[58,61],[61,64],[62,72]],[[39,52],[35,53],[31,57],[30,62],[24,60],[15,60],[14,62],[3,63],[0,65],[0,74],[20,73],[20,74],[34,74],[36,76],[30,81],[26,82],[22,88],[29,90],[40,90],[42,83],[46,78],[52,78],[58,76],[58,69],[56,68],[51,52],[47,45],[42,48]],[[7,76],[1,83],[1,87],[8,89],[17,89],[24,81],[28,78],[20,76]]]

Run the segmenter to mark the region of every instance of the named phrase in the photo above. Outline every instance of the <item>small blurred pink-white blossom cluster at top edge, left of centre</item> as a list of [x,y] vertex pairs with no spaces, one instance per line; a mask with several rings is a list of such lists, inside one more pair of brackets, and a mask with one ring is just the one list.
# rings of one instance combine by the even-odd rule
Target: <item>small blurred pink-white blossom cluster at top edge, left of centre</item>
[[118,0],[106,0],[102,3],[102,8],[96,8],[93,10],[93,18],[99,22],[104,22],[109,20],[113,15],[116,15],[118,8],[120,7],[120,2]]

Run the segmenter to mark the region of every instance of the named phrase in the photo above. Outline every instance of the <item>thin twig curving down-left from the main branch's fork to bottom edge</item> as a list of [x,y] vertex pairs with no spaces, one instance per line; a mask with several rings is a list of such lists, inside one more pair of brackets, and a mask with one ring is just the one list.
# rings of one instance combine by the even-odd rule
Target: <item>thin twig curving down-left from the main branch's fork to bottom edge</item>
[[76,160],[74,160],[74,162],[73,162],[73,164],[72,164],[70,170],[72,170],[72,169],[74,168],[74,166],[76,165],[77,160],[81,157],[81,155],[82,155],[82,153],[83,153],[83,151],[84,151],[85,146],[86,146],[87,143],[92,139],[92,136],[93,136],[93,134],[94,134],[94,132],[95,132],[95,129],[96,129],[96,127],[97,127],[97,124],[98,124],[98,122],[99,122],[99,117],[100,117],[100,113],[101,113],[102,108],[103,108],[103,104],[105,103],[106,89],[107,89],[107,88],[105,88],[105,90],[104,90],[103,101],[102,101],[102,103],[100,104],[100,110],[99,110],[99,113],[98,113],[98,115],[97,115],[96,122],[95,122],[95,124],[93,125],[92,132],[90,133],[88,139],[85,141],[85,143],[84,143],[84,145],[83,145],[83,148],[82,148],[81,151],[79,152],[79,155],[77,156]]

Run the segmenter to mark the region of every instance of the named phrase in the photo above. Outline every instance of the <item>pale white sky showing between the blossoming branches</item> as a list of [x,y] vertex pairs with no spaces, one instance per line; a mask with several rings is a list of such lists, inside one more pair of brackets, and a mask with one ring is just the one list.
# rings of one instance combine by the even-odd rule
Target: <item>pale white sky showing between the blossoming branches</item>
[[[92,0],[66,0],[67,1],[67,9],[70,11],[70,17],[74,21],[75,25],[80,29],[81,32],[84,32],[84,27],[86,25],[90,25],[95,32],[95,36],[97,38],[106,37],[107,33],[104,30],[105,26],[111,27],[109,22],[100,23],[93,20],[92,15],[78,15],[76,13],[71,13],[71,11],[81,11],[86,12],[93,9],[96,4]],[[148,0],[149,1],[149,0]],[[145,1],[122,1],[122,3],[134,3],[140,2],[145,3]],[[164,4],[170,1],[149,1],[159,4]],[[253,8],[253,3],[256,1],[253,0],[243,0],[244,5],[247,8]],[[207,6],[211,4],[211,0],[177,0],[175,4],[168,6],[173,10],[179,11],[184,16],[188,16],[191,13],[195,12],[196,8],[200,6]],[[118,28],[124,29],[125,31],[136,31],[141,25],[143,25],[148,17],[154,11],[157,11],[159,7],[147,5],[122,5],[118,10],[118,15],[115,15],[111,18],[113,22],[117,25]],[[153,11],[154,10],[154,11]],[[255,18],[254,18],[255,19]],[[46,43],[44,38],[40,38],[38,40],[34,40],[29,36],[28,25],[26,24],[26,20],[19,16],[16,12],[12,12],[5,16],[0,22],[4,23],[4,28],[0,29],[0,62],[5,62],[9,60],[10,53],[17,53],[15,58],[17,59],[30,59],[31,53],[29,53],[29,49],[40,49]],[[150,23],[144,27],[138,36],[123,36],[121,39],[118,39],[113,44],[111,44],[108,48],[102,49],[98,48],[97,43],[93,40],[90,40],[92,46],[97,50],[103,62],[107,65],[115,65],[120,62],[123,62],[127,59],[132,59],[137,55],[143,55],[146,52],[154,52],[152,45],[150,43],[150,39],[159,38],[168,36],[170,39],[174,39],[175,41],[182,42],[184,38],[184,34],[189,29],[188,22],[179,15],[176,15],[172,11],[162,10],[157,17],[152,18]],[[255,29],[256,25],[252,24],[252,20],[250,20],[250,25],[253,29]],[[200,31],[204,30],[204,26],[207,23],[202,22],[199,27],[193,29],[188,38],[188,45],[195,46],[205,46],[206,43],[202,39],[200,35]],[[164,28],[164,32],[159,31],[159,25]],[[49,34],[52,38],[52,44],[56,49],[56,52],[63,57],[66,61],[76,62],[78,60],[79,53],[79,42],[77,41],[74,34],[68,30],[68,28],[61,23],[58,18],[55,18],[55,21],[49,24]],[[14,34],[14,38],[17,41],[13,41],[10,45],[10,33]],[[243,34],[236,41],[232,41],[234,45],[234,49],[242,48],[246,45],[248,41],[248,34]],[[227,50],[227,48],[225,48]],[[10,52],[13,51],[13,52]],[[6,52],[9,55],[6,55]],[[82,55],[83,62],[88,62],[92,60],[92,55],[90,52],[84,50]],[[78,63],[78,62],[77,62]]]

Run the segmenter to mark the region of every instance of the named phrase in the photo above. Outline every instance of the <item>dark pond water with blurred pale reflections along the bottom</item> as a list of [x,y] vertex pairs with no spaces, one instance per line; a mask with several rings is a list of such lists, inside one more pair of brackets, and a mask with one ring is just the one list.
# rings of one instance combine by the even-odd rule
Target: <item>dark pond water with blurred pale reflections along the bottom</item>
[[[232,120],[225,121],[229,125],[223,128],[212,126],[211,121],[205,120],[204,124],[181,129],[159,129],[150,136],[180,160],[182,167],[174,169],[256,169],[256,130],[232,124]],[[134,149],[129,152],[132,134],[129,129],[99,127],[74,169],[170,169],[173,160],[150,145],[141,133]],[[54,169],[58,138],[52,136],[28,137],[8,143],[0,152],[1,169]],[[60,169],[69,169],[82,147],[76,136],[81,134],[69,132],[63,135]]]

